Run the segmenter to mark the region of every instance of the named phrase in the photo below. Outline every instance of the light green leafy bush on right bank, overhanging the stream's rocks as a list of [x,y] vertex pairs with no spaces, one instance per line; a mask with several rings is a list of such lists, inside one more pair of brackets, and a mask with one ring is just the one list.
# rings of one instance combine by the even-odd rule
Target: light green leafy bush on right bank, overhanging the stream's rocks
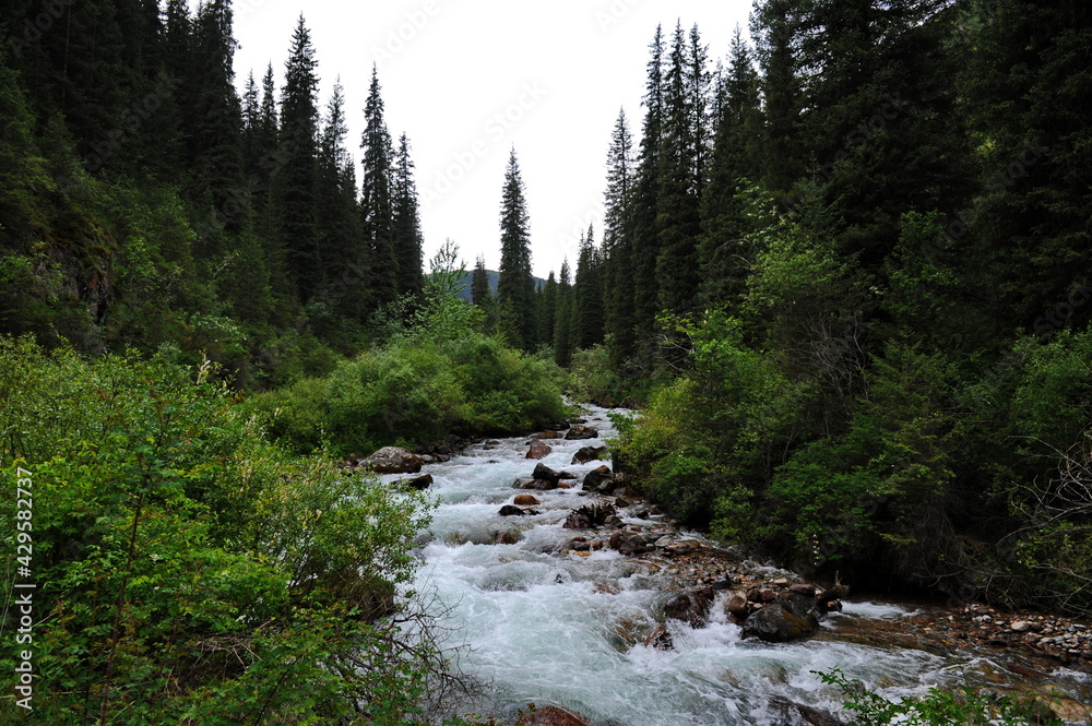
[[721,312],[677,324],[689,367],[656,390],[640,420],[622,432],[619,454],[637,485],[673,515],[738,539],[753,495],[781,463],[806,386],[773,358],[748,348],[737,320]]

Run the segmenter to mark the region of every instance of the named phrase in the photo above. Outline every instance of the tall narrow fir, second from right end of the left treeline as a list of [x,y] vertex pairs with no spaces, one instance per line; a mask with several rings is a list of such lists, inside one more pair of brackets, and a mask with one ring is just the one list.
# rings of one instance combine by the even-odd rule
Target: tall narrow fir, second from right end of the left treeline
[[364,138],[360,159],[364,175],[360,187],[360,214],[364,238],[369,255],[367,267],[372,307],[378,308],[394,300],[399,294],[399,259],[394,250],[394,206],[391,190],[392,147],[391,134],[383,118],[383,98],[380,94],[379,69],[371,68],[371,85],[364,107]]

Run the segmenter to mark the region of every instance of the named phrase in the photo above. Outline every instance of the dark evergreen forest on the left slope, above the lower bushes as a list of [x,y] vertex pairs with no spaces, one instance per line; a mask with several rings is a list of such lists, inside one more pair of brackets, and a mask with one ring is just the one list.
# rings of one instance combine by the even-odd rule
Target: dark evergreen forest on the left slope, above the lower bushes
[[414,165],[376,73],[358,175],[302,17],[283,87],[270,64],[239,97],[229,0],[39,4],[0,11],[0,332],[204,353],[269,385],[412,309]]

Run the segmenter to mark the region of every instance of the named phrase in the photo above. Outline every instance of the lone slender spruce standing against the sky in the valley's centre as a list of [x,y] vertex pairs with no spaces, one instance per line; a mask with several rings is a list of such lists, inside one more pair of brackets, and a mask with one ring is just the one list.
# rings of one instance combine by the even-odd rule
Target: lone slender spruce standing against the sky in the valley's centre
[[500,279],[497,302],[509,343],[531,350],[536,343],[534,278],[531,275],[531,223],[520,164],[513,148],[505,171],[500,210]]

